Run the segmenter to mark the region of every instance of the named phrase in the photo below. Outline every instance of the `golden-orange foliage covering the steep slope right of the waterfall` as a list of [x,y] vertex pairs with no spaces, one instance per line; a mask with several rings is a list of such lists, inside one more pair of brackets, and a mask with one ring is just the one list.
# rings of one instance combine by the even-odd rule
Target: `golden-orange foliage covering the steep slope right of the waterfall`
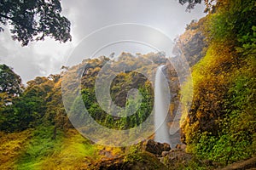
[[[230,82],[230,71],[233,68],[232,58],[228,55],[229,48],[218,51],[213,45],[208,48],[206,56],[193,67],[193,102],[189,116],[183,124],[186,143],[194,143],[199,132],[216,133],[218,125],[215,120],[222,116],[224,110],[224,92]],[[227,67],[229,69],[227,69]],[[186,102],[190,82],[184,85],[183,102]],[[215,120],[214,120],[215,119]],[[210,124],[211,123],[211,124]],[[216,127],[214,127],[216,126]]]

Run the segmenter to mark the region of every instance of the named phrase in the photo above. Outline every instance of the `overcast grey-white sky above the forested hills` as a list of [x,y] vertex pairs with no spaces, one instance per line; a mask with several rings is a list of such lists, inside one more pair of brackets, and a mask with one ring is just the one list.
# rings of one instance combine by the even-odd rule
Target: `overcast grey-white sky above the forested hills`
[[[174,39],[183,33],[190,20],[198,20],[205,15],[203,5],[197,5],[188,13],[177,0],[62,0],[61,4],[62,14],[72,23],[72,42],[60,43],[47,38],[44,42],[33,42],[21,47],[20,42],[11,39],[8,28],[0,33],[0,63],[13,67],[23,83],[38,76],[59,73],[61,65],[67,64],[67,59],[79,42],[102,27],[133,23],[150,26]],[[93,41],[100,42],[101,37],[95,36]],[[102,54],[108,56],[110,50],[119,53],[122,49],[133,54],[143,54],[152,48],[126,42],[102,50]]]

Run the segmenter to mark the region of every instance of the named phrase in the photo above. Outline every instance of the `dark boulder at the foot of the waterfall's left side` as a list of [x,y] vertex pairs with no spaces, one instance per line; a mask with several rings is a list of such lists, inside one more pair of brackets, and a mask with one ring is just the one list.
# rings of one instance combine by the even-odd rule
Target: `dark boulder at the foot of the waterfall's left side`
[[163,151],[171,150],[170,144],[161,144],[159,142],[155,142],[153,139],[148,139],[143,144],[143,150],[148,151],[156,156],[161,156]]

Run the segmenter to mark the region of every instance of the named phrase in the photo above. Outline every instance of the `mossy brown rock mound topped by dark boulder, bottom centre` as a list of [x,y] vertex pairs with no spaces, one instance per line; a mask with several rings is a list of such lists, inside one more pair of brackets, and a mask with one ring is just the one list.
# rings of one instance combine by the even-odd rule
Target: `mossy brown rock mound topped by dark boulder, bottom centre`
[[166,165],[160,161],[159,157],[166,152],[169,154],[171,147],[169,144],[161,144],[155,142],[153,139],[148,139],[143,141],[137,146],[131,146],[137,148],[135,150],[126,149],[124,155],[121,156],[109,156],[109,154],[100,150],[100,152],[107,157],[101,161],[91,163],[89,169],[102,169],[102,170],[112,170],[112,169],[131,169],[131,170],[166,170]]

